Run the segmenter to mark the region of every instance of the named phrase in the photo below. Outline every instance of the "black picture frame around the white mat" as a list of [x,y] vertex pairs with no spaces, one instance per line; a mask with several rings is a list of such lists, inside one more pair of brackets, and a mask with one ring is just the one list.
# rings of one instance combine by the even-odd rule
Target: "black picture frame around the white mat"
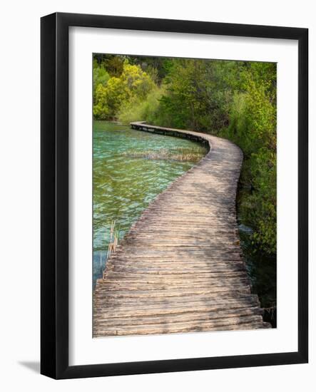
[[[68,365],[68,28],[298,41],[298,350],[280,354]],[[308,361],[308,30],[56,13],[41,18],[41,373],[52,378],[282,365]]]

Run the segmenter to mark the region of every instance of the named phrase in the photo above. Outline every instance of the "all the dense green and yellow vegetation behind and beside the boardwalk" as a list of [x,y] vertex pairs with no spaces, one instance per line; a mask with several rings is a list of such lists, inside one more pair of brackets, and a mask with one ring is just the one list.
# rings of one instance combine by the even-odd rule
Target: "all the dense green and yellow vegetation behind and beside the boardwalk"
[[95,55],[98,120],[199,130],[240,146],[240,216],[254,249],[276,252],[276,64]]

